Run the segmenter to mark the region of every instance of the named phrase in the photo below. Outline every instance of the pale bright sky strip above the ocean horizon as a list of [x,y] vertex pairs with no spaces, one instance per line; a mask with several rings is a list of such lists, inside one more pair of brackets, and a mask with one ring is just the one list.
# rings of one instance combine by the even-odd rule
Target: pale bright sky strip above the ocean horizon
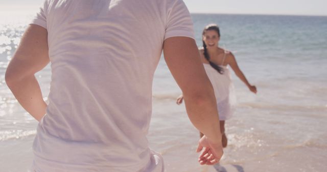
[[[35,11],[42,1],[0,0],[0,11]],[[191,13],[327,16],[327,0],[184,0],[184,2]]]

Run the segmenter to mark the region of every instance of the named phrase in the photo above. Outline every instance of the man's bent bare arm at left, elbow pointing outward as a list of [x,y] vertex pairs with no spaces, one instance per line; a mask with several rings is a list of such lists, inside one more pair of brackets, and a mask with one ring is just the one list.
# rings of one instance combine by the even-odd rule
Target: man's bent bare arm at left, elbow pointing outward
[[34,74],[49,64],[48,32],[31,24],[27,27],[20,44],[6,71],[6,82],[18,102],[37,121],[45,114],[40,86]]

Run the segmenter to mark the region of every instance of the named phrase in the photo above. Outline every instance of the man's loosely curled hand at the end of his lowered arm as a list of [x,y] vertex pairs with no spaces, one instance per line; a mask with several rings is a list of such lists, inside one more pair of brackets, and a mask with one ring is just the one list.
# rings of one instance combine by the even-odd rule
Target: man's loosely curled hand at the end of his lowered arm
[[220,161],[223,156],[222,142],[213,143],[205,135],[199,140],[199,145],[196,152],[201,152],[199,155],[199,163],[201,165],[214,165]]

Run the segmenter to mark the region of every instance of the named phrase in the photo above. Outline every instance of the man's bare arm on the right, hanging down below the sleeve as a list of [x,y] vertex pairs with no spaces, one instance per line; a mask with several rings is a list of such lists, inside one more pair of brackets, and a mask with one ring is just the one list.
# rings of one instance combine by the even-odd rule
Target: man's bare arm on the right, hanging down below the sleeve
[[188,37],[168,38],[164,42],[164,56],[182,90],[191,122],[208,138],[211,146],[215,145],[210,151],[214,154],[214,159],[219,161],[222,147],[216,99],[195,41]]

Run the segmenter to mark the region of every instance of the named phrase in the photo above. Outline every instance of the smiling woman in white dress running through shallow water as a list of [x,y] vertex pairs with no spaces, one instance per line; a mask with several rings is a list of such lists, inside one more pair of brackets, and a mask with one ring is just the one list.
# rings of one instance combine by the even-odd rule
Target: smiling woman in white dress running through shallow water
[[[256,87],[251,85],[243,72],[240,70],[235,56],[218,46],[220,40],[220,30],[216,24],[207,25],[202,32],[203,47],[199,49],[201,61],[204,69],[213,84],[217,107],[220,119],[220,131],[222,133],[222,145],[227,146],[227,137],[225,135],[225,120],[232,115],[233,104],[233,85],[231,82],[228,65],[253,93],[256,93]],[[183,95],[177,98],[177,104],[181,104]],[[200,137],[203,134],[200,132]]]

